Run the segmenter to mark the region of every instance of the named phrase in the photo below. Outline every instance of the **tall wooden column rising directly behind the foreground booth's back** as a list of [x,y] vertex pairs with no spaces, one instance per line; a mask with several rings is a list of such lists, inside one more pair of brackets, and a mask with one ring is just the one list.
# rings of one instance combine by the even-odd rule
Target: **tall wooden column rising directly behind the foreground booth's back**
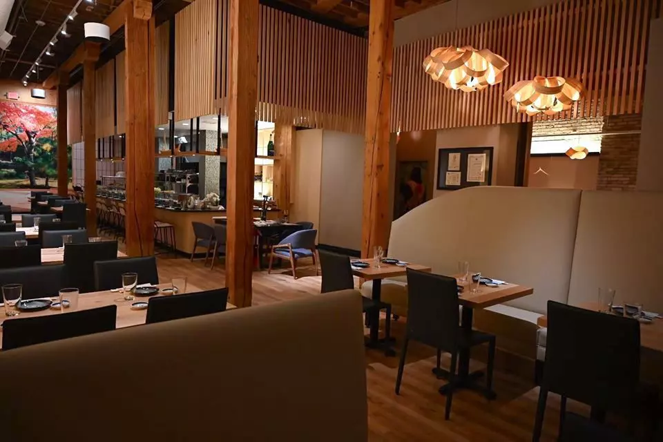
[[226,285],[231,303],[249,307],[253,270],[258,0],[230,0],[229,73]]

